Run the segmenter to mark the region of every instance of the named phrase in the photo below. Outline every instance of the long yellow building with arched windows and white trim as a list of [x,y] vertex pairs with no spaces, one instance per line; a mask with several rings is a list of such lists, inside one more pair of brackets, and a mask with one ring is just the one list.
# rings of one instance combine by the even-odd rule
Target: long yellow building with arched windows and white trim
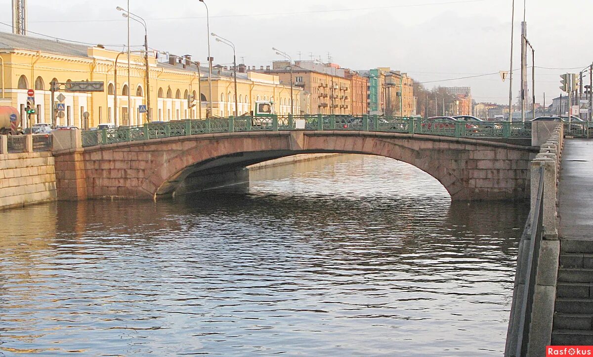
[[[200,67],[199,63],[189,58],[173,57],[173,60],[161,63],[149,56],[148,62],[152,121],[206,118],[209,114],[208,68]],[[74,125],[85,129],[100,123],[117,126],[145,123],[146,114],[139,112],[139,106],[147,104],[144,54],[133,53],[130,58],[130,83],[127,69],[126,53],[100,45],[88,47],[0,32],[0,105],[17,108],[23,118],[23,127],[31,125],[25,121],[28,90],[34,90],[37,109],[37,114],[31,116],[31,122],[52,123],[52,81],[63,84],[72,81],[104,83],[104,91],[93,93],[67,91],[65,88],[68,85],[62,85],[61,91],[55,93],[54,103],[59,103],[57,98],[63,95],[60,103],[63,104],[63,117],[58,117],[56,113],[53,118],[55,125]],[[234,85],[229,73],[213,72],[214,116],[234,113]],[[237,74],[237,77],[240,114],[253,110],[256,100],[275,101],[279,114],[290,112],[290,87],[280,85],[278,76]],[[194,102],[196,106],[189,106],[190,95],[197,99]],[[300,92],[296,87],[294,95],[299,98]],[[295,106],[298,103],[299,100],[295,100]],[[85,113],[88,113],[87,120],[84,119]],[[298,111],[295,110],[295,113]]]

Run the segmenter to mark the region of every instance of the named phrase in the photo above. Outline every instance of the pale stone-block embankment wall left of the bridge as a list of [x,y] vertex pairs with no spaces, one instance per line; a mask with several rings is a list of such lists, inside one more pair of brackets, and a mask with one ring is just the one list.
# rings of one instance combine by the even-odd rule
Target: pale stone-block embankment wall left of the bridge
[[25,152],[9,154],[7,136],[0,135],[0,209],[56,199],[52,152],[33,152],[30,135],[25,139]]

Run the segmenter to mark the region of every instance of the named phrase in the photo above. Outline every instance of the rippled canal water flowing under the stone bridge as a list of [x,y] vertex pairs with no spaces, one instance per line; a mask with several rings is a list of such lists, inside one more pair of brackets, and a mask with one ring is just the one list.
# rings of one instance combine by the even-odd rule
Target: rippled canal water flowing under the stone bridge
[[348,155],[2,211],[0,355],[499,356],[527,209]]

